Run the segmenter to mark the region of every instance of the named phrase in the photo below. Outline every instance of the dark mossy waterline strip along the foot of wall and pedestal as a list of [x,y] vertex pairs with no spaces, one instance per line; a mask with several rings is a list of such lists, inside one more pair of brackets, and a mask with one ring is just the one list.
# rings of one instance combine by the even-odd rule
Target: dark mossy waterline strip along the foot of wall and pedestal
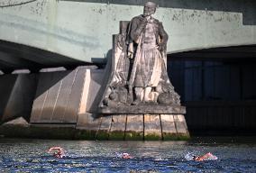
[[3,124],[0,126],[2,138],[35,138],[35,139],[56,139],[56,140],[88,140],[88,141],[188,141],[189,133],[169,133],[163,136],[158,133],[144,135],[143,132],[109,132],[86,129],[76,129],[73,124],[47,125],[29,124],[13,125]]

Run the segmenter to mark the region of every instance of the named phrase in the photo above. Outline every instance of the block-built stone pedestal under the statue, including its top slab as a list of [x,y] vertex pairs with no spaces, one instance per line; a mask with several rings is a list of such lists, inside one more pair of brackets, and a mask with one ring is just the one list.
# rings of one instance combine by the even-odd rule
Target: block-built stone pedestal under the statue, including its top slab
[[98,135],[98,140],[168,141],[189,138],[184,106],[119,105],[101,107],[98,112],[103,115],[104,122],[98,132],[104,135]]

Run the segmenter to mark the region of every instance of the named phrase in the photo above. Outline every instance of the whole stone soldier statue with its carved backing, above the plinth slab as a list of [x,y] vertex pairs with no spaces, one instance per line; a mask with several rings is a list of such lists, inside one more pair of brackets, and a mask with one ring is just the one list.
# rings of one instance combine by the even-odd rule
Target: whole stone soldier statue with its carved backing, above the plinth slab
[[180,105],[166,68],[168,34],[152,17],[157,5],[147,2],[143,14],[122,23],[115,36],[114,72],[101,107]]

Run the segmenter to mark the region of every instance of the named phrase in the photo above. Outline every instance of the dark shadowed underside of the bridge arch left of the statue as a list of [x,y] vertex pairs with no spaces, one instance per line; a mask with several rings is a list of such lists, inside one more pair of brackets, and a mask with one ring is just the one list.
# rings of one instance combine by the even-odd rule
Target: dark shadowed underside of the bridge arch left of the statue
[[28,69],[39,72],[41,68],[76,68],[89,63],[9,41],[0,41],[0,70],[12,73],[15,69]]

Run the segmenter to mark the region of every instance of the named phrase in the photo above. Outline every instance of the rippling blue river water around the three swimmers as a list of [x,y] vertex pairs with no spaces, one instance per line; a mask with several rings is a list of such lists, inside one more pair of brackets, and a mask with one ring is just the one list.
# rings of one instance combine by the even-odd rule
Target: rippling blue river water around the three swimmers
[[[46,152],[66,150],[64,159]],[[133,159],[117,153],[128,152]],[[192,161],[187,153],[212,152],[217,160]],[[256,172],[255,138],[195,138],[192,141],[0,140],[2,172]]]

